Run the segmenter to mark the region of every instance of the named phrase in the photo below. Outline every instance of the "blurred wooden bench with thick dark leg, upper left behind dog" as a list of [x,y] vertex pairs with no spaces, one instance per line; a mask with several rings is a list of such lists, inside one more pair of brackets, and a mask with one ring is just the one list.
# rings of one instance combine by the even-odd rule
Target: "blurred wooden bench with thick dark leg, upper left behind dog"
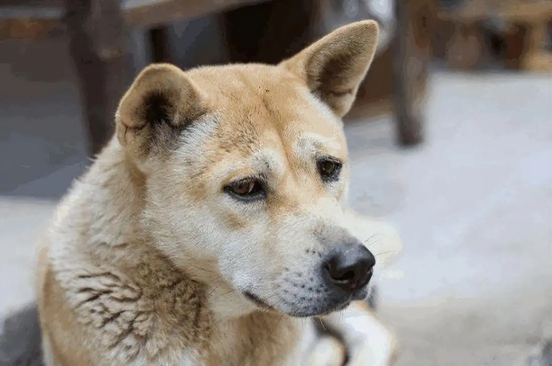
[[[113,133],[113,114],[134,77],[129,28],[150,32],[154,58],[163,58],[163,24],[262,0],[2,0],[0,40],[38,40],[67,33],[75,65],[89,151]],[[38,60],[40,62],[40,60]]]

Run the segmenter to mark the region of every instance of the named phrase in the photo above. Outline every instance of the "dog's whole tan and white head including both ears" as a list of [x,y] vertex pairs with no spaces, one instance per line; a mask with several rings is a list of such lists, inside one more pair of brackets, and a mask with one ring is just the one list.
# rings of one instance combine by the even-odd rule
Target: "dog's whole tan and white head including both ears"
[[377,31],[346,26],[277,66],[142,71],[117,134],[146,176],[144,222],[178,266],[291,316],[365,297],[375,259],[345,229],[341,117]]

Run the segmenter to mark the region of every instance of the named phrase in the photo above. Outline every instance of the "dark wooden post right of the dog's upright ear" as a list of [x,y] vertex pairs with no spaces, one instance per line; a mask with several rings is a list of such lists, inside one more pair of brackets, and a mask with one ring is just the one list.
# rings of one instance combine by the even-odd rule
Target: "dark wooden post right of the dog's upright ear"
[[[430,61],[427,1],[399,0],[395,4],[394,104],[397,140],[415,146],[424,139],[422,101]],[[425,17],[425,18],[424,18]]]

